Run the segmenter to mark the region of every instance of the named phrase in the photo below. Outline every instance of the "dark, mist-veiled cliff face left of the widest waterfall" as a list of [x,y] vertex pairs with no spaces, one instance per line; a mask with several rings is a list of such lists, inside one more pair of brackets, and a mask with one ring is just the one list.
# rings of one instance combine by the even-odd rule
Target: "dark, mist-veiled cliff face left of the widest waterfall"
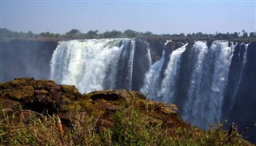
[[50,59],[58,41],[12,39],[0,41],[0,82],[15,77],[48,79]]

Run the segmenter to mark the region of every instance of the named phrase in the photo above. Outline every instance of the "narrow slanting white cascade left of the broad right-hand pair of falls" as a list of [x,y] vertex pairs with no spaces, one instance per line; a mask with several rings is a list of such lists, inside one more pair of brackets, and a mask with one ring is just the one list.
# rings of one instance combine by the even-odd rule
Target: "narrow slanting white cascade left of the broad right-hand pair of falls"
[[178,78],[178,70],[180,68],[182,53],[186,50],[186,45],[183,45],[181,48],[175,49],[170,54],[170,61],[164,72],[161,89],[158,91],[158,97],[162,97],[161,100],[163,102],[174,102],[174,92]]

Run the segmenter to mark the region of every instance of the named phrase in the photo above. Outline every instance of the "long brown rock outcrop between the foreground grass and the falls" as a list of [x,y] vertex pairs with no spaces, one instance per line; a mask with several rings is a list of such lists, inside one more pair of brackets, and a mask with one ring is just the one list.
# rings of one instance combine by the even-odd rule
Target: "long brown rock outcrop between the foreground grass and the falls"
[[31,116],[57,115],[66,127],[98,117],[100,128],[111,127],[111,115],[134,105],[149,116],[150,124],[173,124],[178,117],[176,105],[148,101],[136,91],[103,90],[81,94],[74,85],[57,85],[54,81],[17,78],[0,85],[0,116],[14,113],[20,120],[28,122]]

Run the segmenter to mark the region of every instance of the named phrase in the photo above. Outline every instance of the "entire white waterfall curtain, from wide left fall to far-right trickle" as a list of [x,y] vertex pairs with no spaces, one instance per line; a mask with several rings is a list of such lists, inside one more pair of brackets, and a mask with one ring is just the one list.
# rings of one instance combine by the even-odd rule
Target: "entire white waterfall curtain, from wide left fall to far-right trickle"
[[[76,85],[82,93],[102,89],[140,90],[150,100],[178,105],[182,119],[208,128],[209,124],[222,120],[225,100],[229,111],[234,106],[249,44],[245,45],[242,57],[238,54],[235,57],[243,58],[239,61],[242,69],[234,68],[241,73],[234,76],[239,77],[230,88],[231,92],[235,89],[234,93],[225,97],[226,86],[233,83],[229,77],[233,77],[230,65],[236,45],[229,41],[213,41],[210,45],[194,41],[170,49],[174,51],[167,56],[168,47],[175,43],[163,43],[166,48],[156,53],[150,43],[127,38],[61,41],[50,62],[50,76],[58,84]],[[155,57],[159,59],[151,65]]]

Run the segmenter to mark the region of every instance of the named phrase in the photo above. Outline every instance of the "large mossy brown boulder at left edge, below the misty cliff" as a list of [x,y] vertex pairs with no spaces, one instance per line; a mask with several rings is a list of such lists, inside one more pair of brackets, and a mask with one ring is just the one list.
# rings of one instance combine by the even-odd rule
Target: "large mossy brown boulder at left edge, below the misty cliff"
[[54,81],[35,81],[34,78],[17,78],[0,85],[0,97],[18,101],[23,109],[35,112],[58,112],[62,105],[70,104],[78,89],[69,85],[56,85]]

